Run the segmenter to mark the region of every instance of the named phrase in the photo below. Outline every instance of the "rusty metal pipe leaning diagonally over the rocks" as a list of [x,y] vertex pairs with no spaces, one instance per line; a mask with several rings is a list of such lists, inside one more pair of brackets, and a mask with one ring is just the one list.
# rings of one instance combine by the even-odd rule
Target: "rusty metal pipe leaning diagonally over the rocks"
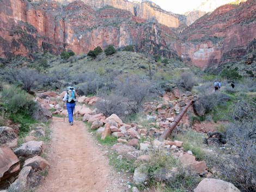
[[182,109],[182,111],[179,113],[179,115],[177,115],[174,119],[174,121],[170,124],[170,127],[167,128],[163,134],[160,136],[160,140],[166,140],[168,138],[168,136],[170,135],[170,133],[172,133],[172,131],[175,129],[176,125],[178,125],[178,123],[180,122],[180,120],[182,119],[182,117],[184,116],[184,114],[187,112],[187,109],[191,106],[191,104],[194,101],[191,100],[189,103],[187,103],[186,107],[184,107],[184,109]]

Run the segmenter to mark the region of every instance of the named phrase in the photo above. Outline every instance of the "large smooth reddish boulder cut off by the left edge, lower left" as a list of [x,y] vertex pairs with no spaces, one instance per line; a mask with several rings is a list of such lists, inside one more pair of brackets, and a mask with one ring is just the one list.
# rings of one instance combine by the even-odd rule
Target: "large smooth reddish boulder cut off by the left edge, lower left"
[[20,162],[8,147],[0,147],[0,183],[20,170]]

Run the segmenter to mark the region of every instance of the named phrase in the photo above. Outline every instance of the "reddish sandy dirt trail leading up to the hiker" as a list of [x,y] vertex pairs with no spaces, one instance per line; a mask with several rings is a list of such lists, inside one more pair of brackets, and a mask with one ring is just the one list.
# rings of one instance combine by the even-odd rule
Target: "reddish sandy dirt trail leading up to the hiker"
[[126,191],[113,178],[108,159],[94,144],[83,122],[69,126],[68,122],[54,117],[52,144],[48,148],[51,169],[37,192]]

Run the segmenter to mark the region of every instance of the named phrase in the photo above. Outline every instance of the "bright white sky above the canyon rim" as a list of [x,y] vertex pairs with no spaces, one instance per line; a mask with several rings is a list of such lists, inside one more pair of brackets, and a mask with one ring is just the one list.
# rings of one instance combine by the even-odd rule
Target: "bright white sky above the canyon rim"
[[203,0],[150,0],[162,9],[172,11],[176,14],[184,14],[186,11],[196,9]]

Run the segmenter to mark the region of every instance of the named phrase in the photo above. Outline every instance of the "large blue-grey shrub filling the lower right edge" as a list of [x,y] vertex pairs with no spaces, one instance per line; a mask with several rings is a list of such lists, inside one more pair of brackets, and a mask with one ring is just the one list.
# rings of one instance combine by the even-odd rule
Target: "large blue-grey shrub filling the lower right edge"
[[255,120],[237,121],[228,126],[226,145],[230,150],[223,152],[219,169],[225,181],[233,183],[245,192],[256,191],[255,141]]

